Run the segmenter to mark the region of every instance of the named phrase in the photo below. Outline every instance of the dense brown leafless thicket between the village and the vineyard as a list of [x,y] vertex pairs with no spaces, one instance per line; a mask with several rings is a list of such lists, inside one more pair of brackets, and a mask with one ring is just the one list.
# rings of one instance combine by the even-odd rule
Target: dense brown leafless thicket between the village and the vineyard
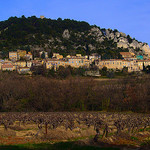
[[0,74],[0,111],[150,111],[150,78],[99,81]]

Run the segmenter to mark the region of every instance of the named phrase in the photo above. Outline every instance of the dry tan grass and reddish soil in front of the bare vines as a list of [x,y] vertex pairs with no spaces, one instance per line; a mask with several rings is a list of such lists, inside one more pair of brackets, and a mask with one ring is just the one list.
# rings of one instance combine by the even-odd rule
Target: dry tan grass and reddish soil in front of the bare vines
[[[94,142],[93,138],[96,135],[94,127],[87,128],[82,126],[76,127],[72,131],[65,129],[63,126],[56,129],[48,129],[45,134],[45,128],[39,132],[36,124],[18,125],[15,123],[10,126],[7,130],[3,126],[0,126],[0,144],[1,145],[16,145],[26,143],[42,143],[42,142],[59,142],[59,141],[76,141],[78,144],[85,145],[100,145],[100,146],[118,146],[123,147],[124,145],[139,149],[142,147],[148,147],[150,141],[150,130],[144,132],[137,132],[132,135],[122,133],[117,136],[115,133],[110,134],[107,138],[100,136],[98,142]],[[150,150],[150,149],[149,149]]]

